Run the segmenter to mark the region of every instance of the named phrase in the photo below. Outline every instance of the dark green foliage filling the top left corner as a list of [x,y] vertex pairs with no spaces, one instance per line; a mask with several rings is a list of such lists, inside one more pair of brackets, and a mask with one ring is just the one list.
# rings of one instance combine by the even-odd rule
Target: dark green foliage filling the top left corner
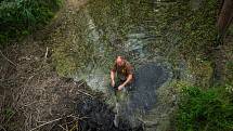
[[48,24],[62,0],[0,0],[0,48]]

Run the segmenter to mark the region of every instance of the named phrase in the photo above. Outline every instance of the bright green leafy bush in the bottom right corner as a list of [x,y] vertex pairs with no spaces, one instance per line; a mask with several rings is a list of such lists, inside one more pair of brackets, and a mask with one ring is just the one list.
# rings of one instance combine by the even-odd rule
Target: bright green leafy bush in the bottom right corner
[[232,94],[224,88],[186,87],[176,119],[178,131],[232,131]]

